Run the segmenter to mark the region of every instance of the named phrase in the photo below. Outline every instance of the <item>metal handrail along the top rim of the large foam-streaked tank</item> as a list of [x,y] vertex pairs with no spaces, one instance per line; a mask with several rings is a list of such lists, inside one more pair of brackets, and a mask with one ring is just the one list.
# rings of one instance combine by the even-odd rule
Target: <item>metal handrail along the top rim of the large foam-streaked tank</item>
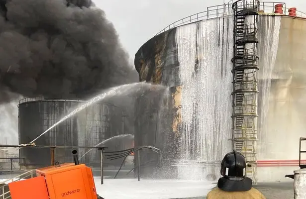
[[[187,16],[185,18],[182,18],[180,20],[177,20],[177,21],[171,23],[170,25],[166,26],[164,29],[159,31],[155,36],[165,32],[167,30],[170,30],[172,28],[179,27],[181,25],[186,25],[186,24],[189,24],[189,23],[202,21],[204,19],[231,15],[232,14],[232,9],[231,9],[232,4],[233,4],[233,0],[231,0],[228,3],[225,3],[225,4],[209,6],[209,7],[207,7],[206,11]],[[264,11],[264,14],[276,14],[276,13],[274,13],[274,9],[275,9],[276,4],[283,4],[283,14],[278,14],[278,15],[288,15],[289,14],[289,9],[290,8],[286,7],[285,2],[261,1],[260,5],[259,5],[259,10]],[[306,18],[306,13],[305,12],[297,10],[296,13],[297,13],[296,17]]]

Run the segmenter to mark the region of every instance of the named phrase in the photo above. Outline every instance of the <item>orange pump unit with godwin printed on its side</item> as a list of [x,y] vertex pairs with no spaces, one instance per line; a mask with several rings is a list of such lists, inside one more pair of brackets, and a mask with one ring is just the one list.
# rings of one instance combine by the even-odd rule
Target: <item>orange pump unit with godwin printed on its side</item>
[[97,199],[92,169],[74,163],[36,170],[35,178],[8,184],[12,199]]

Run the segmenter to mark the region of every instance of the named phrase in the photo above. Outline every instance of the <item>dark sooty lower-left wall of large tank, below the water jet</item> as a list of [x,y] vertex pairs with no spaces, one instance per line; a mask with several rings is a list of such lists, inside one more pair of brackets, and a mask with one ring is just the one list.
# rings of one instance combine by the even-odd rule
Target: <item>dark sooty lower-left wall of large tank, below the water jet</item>
[[[140,151],[141,176],[147,178],[167,177],[157,173],[156,168],[164,160],[171,159],[176,155],[173,145],[175,145],[171,132],[172,123],[172,99],[169,89],[149,90],[135,100],[135,147],[154,146],[163,154],[162,157],[150,149]],[[176,148],[174,148],[176,149]],[[170,152],[171,153],[168,153]],[[138,152],[135,153],[138,157]],[[135,158],[135,164],[138,159]],[[136,167],[137,173],[138,168]],[[166,171],[165,171],[166,172]]]

